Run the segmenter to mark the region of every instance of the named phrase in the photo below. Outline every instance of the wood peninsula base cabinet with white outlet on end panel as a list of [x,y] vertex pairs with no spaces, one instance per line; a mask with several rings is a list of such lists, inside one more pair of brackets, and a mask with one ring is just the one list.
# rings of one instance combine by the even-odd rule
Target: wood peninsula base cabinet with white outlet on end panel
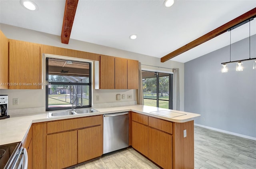
[[134,112],[131,116],[134,149],[164,169],[194,169],[193,120],[174,123]]

